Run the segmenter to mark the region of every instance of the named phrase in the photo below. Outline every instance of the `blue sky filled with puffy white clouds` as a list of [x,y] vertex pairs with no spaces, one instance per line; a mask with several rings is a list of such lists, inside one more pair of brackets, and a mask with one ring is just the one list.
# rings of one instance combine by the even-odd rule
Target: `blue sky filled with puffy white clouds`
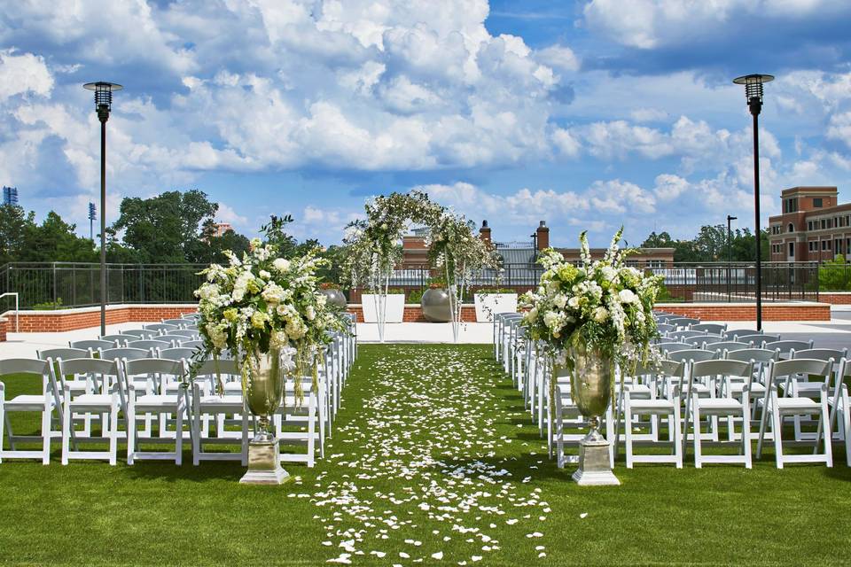
[[[623,223],[690,237],[753,224],[750,117],[768,73],[762,210],[851,199],[847,0],[87,0],[0,5],[0,183],[88,232],[98,122],[120,82],[110,203],[198,188],[253,235],[293,214],[338,242],[363,201],[421,188],[498,240]],[[764,220],[763,220],[764,221]]]

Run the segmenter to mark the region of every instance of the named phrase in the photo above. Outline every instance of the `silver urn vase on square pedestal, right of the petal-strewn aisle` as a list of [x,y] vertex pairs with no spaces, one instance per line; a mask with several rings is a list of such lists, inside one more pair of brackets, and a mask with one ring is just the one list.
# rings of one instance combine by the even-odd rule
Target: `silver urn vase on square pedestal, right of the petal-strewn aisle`
[[570,393],[582,416],[588,419],[589,432],[579,444],[579,469],[574,472],[578,485],[620,485],[609,460],[609,441],[600,433],[600,417],[612,398],[614,361],[599,350],[581,342],[567,351]]

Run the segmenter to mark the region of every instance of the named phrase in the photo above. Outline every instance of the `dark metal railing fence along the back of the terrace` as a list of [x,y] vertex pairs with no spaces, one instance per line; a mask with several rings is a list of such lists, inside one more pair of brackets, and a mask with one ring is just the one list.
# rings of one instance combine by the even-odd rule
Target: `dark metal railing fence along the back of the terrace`
[[[107,301],[118,303],[185,303],[195,301],[202,277],[201,264],[107,264]],[[820,273],[816,262],[767,262],[762,265],[762,295],[766,301],[816,300]],[[839,269],[839,268],[836,268]],[[851,281],[851,268],[842,277]],[[649,272],[665,278],[666,296],[661,299],[689,302],[753,301],[756,269],[753,263],[675,263]],[[481,270],[469,289],[534,289],[543,268],[530,264],[506,264],[499,270]],[[324,280],[340,281],[335,268],[323,270]],[[390,287],[410,294],[425,290],[440,279],[442,270],[416,266],[394,270]],[[834,279],[842,279],[837,277]],[[88,307],[100,303],[100,266],[96,263],[16,262],[0,268],[0,293],[18,292],[21,308],[55,309]],[[349,301],[360,300],[360,289],[346,290]],[[6,310],[9,305],[2,305]]]

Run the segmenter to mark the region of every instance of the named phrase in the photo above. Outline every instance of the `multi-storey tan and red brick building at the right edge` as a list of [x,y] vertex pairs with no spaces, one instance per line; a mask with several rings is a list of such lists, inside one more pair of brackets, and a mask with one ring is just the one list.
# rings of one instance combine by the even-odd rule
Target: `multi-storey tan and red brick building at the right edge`
[[836,187],[783,190],[781,214],[769,217],[772,261],[824,261],[851,251],[851,203],[839,205]]

